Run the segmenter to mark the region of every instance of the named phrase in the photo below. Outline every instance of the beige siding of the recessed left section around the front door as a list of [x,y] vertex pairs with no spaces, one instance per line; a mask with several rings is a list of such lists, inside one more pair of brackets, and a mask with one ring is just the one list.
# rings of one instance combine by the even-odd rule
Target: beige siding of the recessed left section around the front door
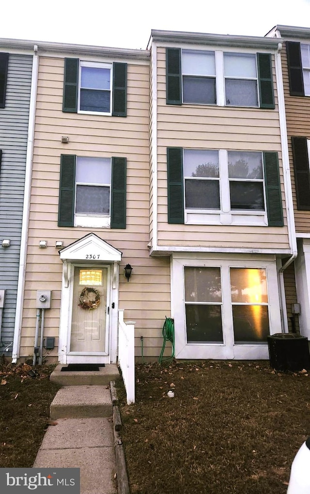
[[[149,67],[128,62],[127,118],[62,112],[64,60],[40,58],[37,114],[34,135],[33,181],[27,252],[25,305],[21,356],[33,354],[37,289],[51,289],[51,309],[45,312],[45,336],[58,345],[63,263],[55,241],[64,247],[91,231],[122,252],[119,308],[126,320],[135,321],[137,351],[140,339],[150,357],[158,357],[165,316],[170,316],[170,258],[151,258],[149,242]],[[62,144],[61,137],[69,136]],[[59,228],[58,196],[60,155],[127,158],[127,228]],[[40,240],[48,247],[39,249]],[[124,266],[133,266],[128,283]],[[155,345],[149,344],[155,341]],[[57,356],[58,348],[50,353]]]

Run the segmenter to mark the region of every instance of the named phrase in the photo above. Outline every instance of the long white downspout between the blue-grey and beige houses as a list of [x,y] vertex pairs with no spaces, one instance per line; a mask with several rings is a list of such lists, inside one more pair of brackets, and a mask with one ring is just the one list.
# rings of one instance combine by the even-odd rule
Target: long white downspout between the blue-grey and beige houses
[[37,54],[37,44],[35,44],[32,76],[31,76],[23,220],[22,220],[21,247],[20,247],[20,260],[19,260],[17,298],[16,298],[14,339],[13,339],[13,349],[12,349],[13,364],[17,362],[17,359],[19,357],[20,337],[21,337],[21,329],[22,329],[23,300],[24,300],[25,276],[26,276],[26,256],[27,256],[27,246],[28,246],[28,221],[29,221],[29,210],[30,210],[31,176],[32,176],[33,151],[34,151],[34,122],[35,122],[35,107],[36,107],[37,76],[38,76],[38,54]]

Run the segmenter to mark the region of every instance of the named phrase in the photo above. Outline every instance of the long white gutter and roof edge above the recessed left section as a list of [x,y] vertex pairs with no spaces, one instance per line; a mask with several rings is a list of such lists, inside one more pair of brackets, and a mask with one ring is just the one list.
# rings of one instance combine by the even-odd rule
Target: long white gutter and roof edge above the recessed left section
[[56,43],[52,41],[32,41],[14,40],[0,38],[0,47],[5,49],[34,50],[37,46],[38,53],[66,53],[72,55],[103,55],[115,58],[133,58],[136,60],[148,60],[150,57],[148,50],[138,50],[132,48],[112,48],[108,46],[93,46],[87,44]]

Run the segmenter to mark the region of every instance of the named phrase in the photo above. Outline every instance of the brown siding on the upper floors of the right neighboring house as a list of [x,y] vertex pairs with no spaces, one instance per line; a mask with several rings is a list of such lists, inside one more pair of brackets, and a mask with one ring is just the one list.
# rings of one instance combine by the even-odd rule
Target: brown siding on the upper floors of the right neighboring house
[[292,194],[295,216],[295,228],[298,233],[310,233],[310,211],[298,210],[294,177],[292,136],[303,136],[310,139],[310,97],[291,96],[289,92],[286,45],[281,51],[288,152],[291,167]]

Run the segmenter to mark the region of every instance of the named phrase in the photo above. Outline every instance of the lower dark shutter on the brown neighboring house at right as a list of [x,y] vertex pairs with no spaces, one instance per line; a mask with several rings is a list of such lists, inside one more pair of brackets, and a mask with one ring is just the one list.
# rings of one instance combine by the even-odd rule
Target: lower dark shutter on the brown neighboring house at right
[[310,211],[310,170],[307,137],[292,137],[297,209]]

